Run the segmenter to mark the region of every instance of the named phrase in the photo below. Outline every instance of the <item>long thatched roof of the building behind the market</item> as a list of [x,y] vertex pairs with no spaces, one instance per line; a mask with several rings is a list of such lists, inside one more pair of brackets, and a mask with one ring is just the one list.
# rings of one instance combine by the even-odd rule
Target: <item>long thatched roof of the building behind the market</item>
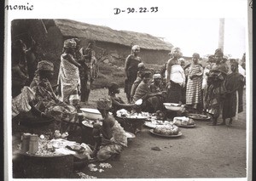
[[116,31],[107,26],[90,25],[74,20],[54,20],[63,36],[88,38],[101,42],[113,42],[131,47],[138,44],[141,48],[154,50],[171,50],[170,42],[159,37],[133,31]]

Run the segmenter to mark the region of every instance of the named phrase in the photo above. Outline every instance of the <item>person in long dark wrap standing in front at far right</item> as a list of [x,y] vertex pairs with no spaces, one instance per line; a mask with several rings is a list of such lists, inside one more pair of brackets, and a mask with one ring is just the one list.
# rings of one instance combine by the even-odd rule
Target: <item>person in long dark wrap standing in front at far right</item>
[[232,62],[230,65],[232,73],[224,81],[223,122],[220,125],[225,125],[227,118],[230,118],[229,125],[231,125],[234,117],[242,111],[244,76],[238,72],[236,59],[230,59],[230,62]]

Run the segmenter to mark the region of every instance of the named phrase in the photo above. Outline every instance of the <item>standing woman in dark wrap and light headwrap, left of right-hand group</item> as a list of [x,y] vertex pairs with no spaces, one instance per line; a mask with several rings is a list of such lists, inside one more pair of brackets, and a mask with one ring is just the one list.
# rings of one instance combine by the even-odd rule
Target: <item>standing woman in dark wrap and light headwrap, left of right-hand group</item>
[[125,93],[128,103],[131,103],[131,87],[137,78],[138,64],[142,62],[138,56],[140,47],[134,45],[131,54],[125,60]]

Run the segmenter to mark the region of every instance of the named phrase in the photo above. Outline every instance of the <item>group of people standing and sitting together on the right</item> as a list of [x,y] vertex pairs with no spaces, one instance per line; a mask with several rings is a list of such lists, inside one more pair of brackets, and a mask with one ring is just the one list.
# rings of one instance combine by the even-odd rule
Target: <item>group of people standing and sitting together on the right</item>
[[208,57],[206,66],[201,65],[197,53],[186,65],[181,49],[172,48],[171,59],[153,76],[145,71],[139,52],[139,46],[133,46],[125,61],[125,93],[129,104],[143,99],[142,110],[148,112],[164,110],[165,102],[183,104],[190,112],[209,113],[214,126],[218,125],[221,114],[220,125],[224,125],[227,118],[231,124],[232,117],[242,111],[245,73],[241,70],[244,69],[237,59],[226,59],[220,48]]

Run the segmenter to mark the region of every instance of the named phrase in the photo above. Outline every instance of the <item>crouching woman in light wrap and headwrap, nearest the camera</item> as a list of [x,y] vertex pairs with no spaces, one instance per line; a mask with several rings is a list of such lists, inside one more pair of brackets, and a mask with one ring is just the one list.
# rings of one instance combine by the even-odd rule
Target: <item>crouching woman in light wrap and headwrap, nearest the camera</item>
[[119,156],[121,150],[127,147],[125,130],[113,116],[108,114],[112,103],[109,99],[99,99],[97,109],[102,114],[102,127],[94,125],[93,135],[96,139],[95,149],[91,155],[98,161],[106,161],[110,157]]

